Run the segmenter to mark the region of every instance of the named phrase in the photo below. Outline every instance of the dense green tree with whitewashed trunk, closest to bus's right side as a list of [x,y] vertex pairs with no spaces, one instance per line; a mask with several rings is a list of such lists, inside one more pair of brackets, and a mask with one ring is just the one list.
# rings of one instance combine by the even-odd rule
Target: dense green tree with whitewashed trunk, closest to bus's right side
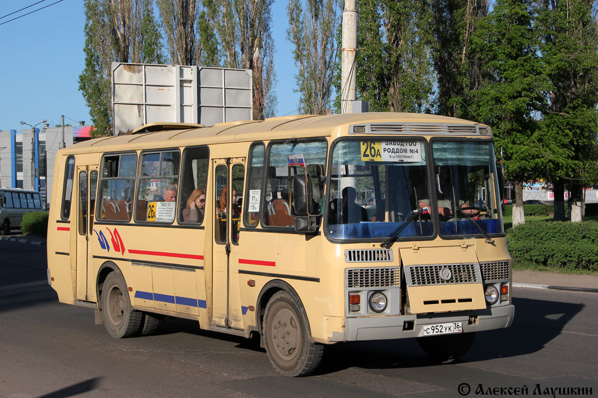
[[513,225],[524,222],[523,183],[539,175],[542,158],[539,122],[547,79],[538,56],[539,37],[530,0],[499,0],[480,20],[468,53],[477,54],[492,73],[486,87],[461,98],[460,113],[493,128],[505,176],[515,183]]

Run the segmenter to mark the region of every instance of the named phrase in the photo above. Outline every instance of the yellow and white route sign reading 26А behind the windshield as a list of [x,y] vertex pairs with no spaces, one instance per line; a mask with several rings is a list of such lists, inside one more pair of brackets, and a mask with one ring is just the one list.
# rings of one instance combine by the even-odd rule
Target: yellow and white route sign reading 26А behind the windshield
[[421,162],[420,141],[361,141],[364,162]]

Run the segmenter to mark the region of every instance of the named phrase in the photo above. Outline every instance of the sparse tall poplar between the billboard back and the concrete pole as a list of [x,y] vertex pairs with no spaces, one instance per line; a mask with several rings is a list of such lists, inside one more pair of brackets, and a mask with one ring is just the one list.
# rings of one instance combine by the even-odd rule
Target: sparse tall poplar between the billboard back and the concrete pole
[[287,38],[294,44],[299,112],[324,115],[332,93],[337,51],[334,35],[340,22],[338,0],[289,0]]

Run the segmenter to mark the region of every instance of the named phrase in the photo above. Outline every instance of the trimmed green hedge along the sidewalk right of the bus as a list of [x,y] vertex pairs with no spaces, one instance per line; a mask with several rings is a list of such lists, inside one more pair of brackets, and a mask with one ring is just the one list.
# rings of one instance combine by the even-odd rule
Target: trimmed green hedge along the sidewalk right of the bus
[[598,223],[527,221],[508,230],[507,246],[517,260],[598,271]]

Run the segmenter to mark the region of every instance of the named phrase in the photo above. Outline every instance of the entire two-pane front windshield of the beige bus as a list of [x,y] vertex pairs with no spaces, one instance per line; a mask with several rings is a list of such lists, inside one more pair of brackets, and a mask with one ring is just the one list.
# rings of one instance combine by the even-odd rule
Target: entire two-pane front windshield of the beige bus
[[338,142],[328,235],[385,240],[398,231],[397,239],[413,240],[502,233],[492,143],[437,140],[431,148],[430,155],[425,141],[411,137]]

